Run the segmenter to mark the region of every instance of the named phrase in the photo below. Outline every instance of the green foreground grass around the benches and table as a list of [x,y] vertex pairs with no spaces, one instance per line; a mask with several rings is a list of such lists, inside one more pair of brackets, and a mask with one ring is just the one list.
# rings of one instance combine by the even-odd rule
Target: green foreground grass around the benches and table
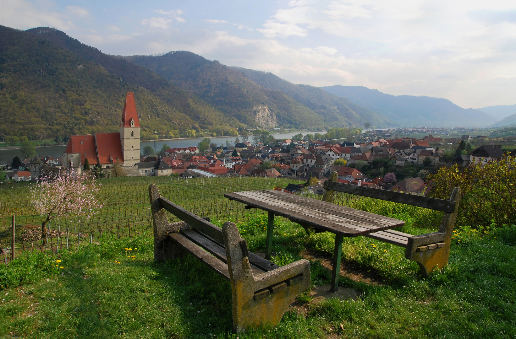
[[[265,216],[249,214],[239,223],[251,250],[263,249],[265,222]],[[426,231],[411,226],[404,230]],[[402,248],[383,243],[374,247],[363,237],[345,240],[343,260],[379,275],[381,283],[341,277],[343,286],[359,291],[357,301],[307,303],[305,313],[288,311],[276,327],[251,329],[238,336],[324,338],[337,333],[350,338],[515,337],[514,229],[483,238],[463,232],[457,232],[461,234],[455,237],[447,268],[429,279],[421,278],[417,265],[403,258]],[[297,260],[305,248],[328,253],[332,238],[327,233],[306,235],[297,224],[278,218],[274,261],[284,265]],[[82,247],[78,253],[60,253],[62,261],[58,265],[63,269],[54,266],[54,255],[46,262],[28,258],[25,263],[13,262],[10,272],[0,270],[2,281],[12,282],[3,291],[0,335],[236,337],[231,331],[229,283],[199,261],[186,256],[154,264],[150,235],[131,241],[100,241],[101,245]],[[127,253],[125,247],[133,251]],[[136,253],[134,247],[138,248]],[[128,255],[136,255],[136,259]],[[13,272],[26,282],[17,286]],[[27,272],[33,278],[27,278]],[[329,277],[329,270],[312,263],[313,285],[328,283]],[[310,298],[301,295],[299,300],[308,302]]]

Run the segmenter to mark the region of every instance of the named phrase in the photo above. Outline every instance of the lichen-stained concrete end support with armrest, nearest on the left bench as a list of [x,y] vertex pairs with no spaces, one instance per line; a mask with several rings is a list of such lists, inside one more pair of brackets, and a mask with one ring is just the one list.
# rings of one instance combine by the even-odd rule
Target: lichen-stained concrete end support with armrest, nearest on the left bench
[[310,287],[310,262],[301,259],[254,277],[236,225],[225,223],[222,234],[228,256],[234,331],[278,324],[288,306]]

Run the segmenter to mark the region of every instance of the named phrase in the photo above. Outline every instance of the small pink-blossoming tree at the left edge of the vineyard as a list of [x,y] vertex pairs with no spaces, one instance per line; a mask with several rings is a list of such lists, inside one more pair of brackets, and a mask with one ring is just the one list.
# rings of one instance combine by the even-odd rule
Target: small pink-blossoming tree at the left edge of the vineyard
[[45,217],[41,223],[41,238],[46,244],[46,224],[63,215],[79,219],[99,212],[103,204],[98,200],[100,184],[86,174],[67,170],[56,177],[45,176],[30,188],[31,202]]

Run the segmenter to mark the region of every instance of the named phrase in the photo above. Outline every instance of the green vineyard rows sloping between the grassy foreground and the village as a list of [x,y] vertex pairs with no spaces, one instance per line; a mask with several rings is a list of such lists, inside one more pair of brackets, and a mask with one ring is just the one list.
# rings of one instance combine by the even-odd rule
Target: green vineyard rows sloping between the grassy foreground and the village
[[[220,221],[242,221],[248,213],[244,205],[224,198],[226,192],[251,191],[285,187],[291,179],[259,177],[214,177],[176,179],[170,177],[123,177],[100,179],[99,199],[104,207],[93,218],[79,220],[72,216],[50,222],[49,239],[41,245],[41,222],[30,198],[30,185],[19,183],[0,189],[0,247],[4,256],[9,256],[11,241],[11,217],[15,216],[16,253],[24,250],[52,250],[76,247],[99,241],[103,234],[118,238],[151,234],[152,215],[149,208],[149,184],[158,185],[160,193],[181,207],[199,216],[209,216]],[[314,195],[315,198],[320,196]],[[343,204],[347,197],[338,195]],[[337,202],[337,201],[336,201]],[[337,202],[338,203],[338,202]],[[253,213],[265,213],[253,210]],[[170,215],[170,221],[178,221]],[[3,258],[2,258],[3,259]]]

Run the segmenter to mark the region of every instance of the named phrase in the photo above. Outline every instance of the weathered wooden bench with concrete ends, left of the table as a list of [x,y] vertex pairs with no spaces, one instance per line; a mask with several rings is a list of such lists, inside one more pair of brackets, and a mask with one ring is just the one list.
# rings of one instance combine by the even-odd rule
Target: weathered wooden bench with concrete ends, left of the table
[[[235,224],[222,229],[175,205],[149,187],[154,222],[154,260],[199,259],[231,284],[233,329],[241,332],[263,324],[276,325],[288,306],[310,287],[310,262],[305,259],[278,266],[249,252]],[[182,221],[169,223],[166,211]]]

